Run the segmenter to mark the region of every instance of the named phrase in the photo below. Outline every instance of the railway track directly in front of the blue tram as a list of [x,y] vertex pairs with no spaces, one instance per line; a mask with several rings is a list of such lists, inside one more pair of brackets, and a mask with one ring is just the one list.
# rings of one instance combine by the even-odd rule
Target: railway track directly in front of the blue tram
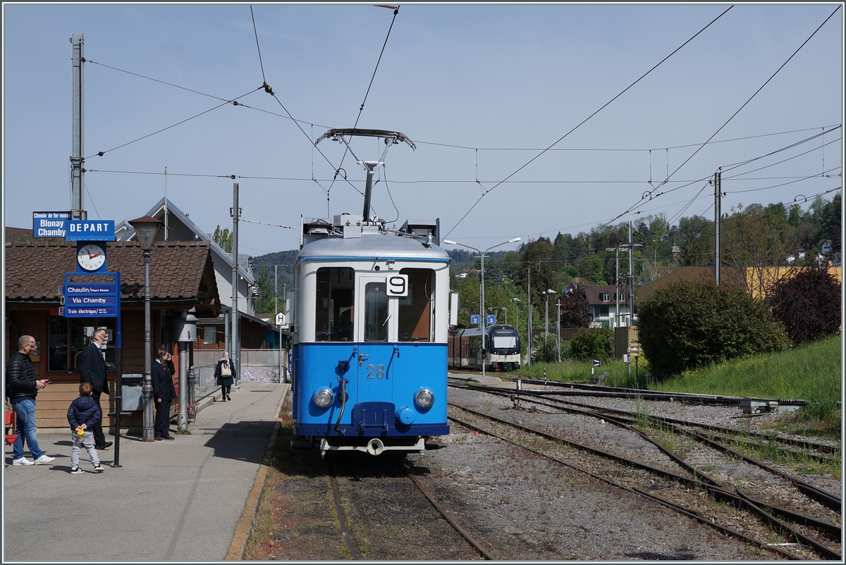
[[[370,467],[370,461],[358,458],[356,463]],[[456,518],[437,501],[426,485],[415,476],[414,469],[408,464],[401,464],[393,461],[387,464],[390,470],[386,474],[386,462],[382,457],[374,461],[376,466],[381,466],[378,473],[363,476],[356,472],[346,474],[340,480],[335,471],[335,465],[327,461],[327,479],[332,491],[333,507],[341,528],[341,534],[347,544],[350,555],[354,560],[361,559],[473,559],[484,558],[496,560],[497,558],[488,551],[478,540],[470,535]],[[350,466],[345,466],[349,469]],[[353,465],[352,467],[355,467]],[[368,478],[375,479],[372,481]],[[340,483],[340,484],[339,484]],[[411,487],[413,485],[413,487]],[[415,496],[410,490],[415,490]],[[421,507],[420,502],[428,507]],[[361,504],[359,502],[364,502]],[[382,507],[376,508],[376,506]],[[458,536],[443,535],[443,531],[437,532],[437,524],[433,524],[434,516],[431,511],[437,512],[443,520],[449,524]],[[350,517],[349,514],[352,514]],[[384,531],[385,524],[395,524],[394,528],[408,529],[408,555],[397,556],[397,546],[388,549],[384,540],[391,537],[396,541],[399,536],[382,536],[378,534]],[[350,526],[349,524],[354,524]],[[396,524],[406,524],[397,526]],[[437,535],[436,535],[437,532]],[[417,538],[416,543],[408,543],[411,536]],[[428,539],[426,536],[428,535]],[[388,542],[389,544],[391,542]],[[425,544],[426,554],[420,555],[415,552],[414,546]],[[456,545],[463,545],[456,547]],[[470,547],[467,547],[467,544]],[[472,548],[472,549],[470,549]],[[387,551],[387,552],[386,552]],[[432,552],[434,551],[434,553]],[[473,555],[475,553],[475,555]]]

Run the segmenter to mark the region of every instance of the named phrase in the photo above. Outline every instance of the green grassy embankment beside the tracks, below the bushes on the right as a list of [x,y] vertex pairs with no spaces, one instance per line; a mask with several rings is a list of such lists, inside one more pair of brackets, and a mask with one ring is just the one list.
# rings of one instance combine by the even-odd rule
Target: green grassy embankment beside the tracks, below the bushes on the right
[[[843,376],[841,340],[839,336],[777,354],[761,354],[744,359],[732,359],[719,365],[686,371],[666,381],[646,378],[649,370],[638,359],[640,388],[667,392],[722,394],[755,398],[802,398],[808,407],[783,420],[791,431],[810,435],[840,436],[841,378]],[[534,364],[520,372],[531,378],[553,381],[588,382],[591,363],[565,361],[561,364]],[[606,372],[603,385],[634,387],[634,362],[609,361],[595,370],[596,376]],[[791,424],[792,422],[792,424]]]

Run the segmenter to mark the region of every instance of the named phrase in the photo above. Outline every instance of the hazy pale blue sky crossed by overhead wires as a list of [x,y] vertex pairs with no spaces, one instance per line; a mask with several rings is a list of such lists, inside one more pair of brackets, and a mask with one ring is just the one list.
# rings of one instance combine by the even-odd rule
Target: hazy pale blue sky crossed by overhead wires
[[[72,34],[88,217],[139,217],[167,185],[211,233],[232,227],[238,183],[249,255],[297,249],[301,216],[361,213],[364,169],[338,142],[312,144],[357,120],[416,145],[387,151],[376,214],[439,218],[442,237],[482,250],[712,219],[720,167],[723,212],[831,200],[843,9],[729,6],[259,3],[254,30],[249,4],[4,3],[4,225],[70,208]],[[377,143],[352,147],[376,160]]]

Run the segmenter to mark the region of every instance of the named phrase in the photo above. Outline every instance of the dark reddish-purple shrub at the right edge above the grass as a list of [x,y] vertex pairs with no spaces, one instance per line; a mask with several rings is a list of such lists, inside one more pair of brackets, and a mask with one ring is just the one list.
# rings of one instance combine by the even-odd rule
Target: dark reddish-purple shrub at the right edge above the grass
[[796,345],[830,336],[840,327],[840,283],[827,269],[806,266],[777,282],[768,304]]

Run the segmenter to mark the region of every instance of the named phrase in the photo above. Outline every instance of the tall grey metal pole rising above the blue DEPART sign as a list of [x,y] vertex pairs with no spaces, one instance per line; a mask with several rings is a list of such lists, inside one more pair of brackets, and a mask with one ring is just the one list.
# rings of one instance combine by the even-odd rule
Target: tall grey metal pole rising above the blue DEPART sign
[[70,219],[85,220],[85,36],[70,36],[73,127],[70,156]]

